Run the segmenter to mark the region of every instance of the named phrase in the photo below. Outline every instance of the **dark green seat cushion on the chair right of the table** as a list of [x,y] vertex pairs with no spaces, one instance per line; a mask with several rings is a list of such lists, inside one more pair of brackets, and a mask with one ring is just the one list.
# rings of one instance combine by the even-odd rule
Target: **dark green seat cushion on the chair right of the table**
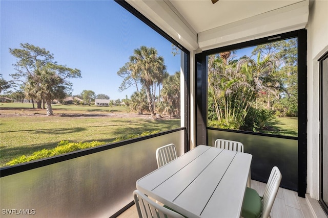
[[261,216],[261,197],[253,188],[246,188],[241,216],[244,218],[258,218]]

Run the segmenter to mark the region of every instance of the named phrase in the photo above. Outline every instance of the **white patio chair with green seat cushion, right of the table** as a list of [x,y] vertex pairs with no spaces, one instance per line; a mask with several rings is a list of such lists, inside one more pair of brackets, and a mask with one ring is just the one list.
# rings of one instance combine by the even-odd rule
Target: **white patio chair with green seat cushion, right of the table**
[[270,211],[276,199],[281,178],[279,168],[274,166],[271,170],[267,186],[265,186],[263,197],[260,197],[255,189],[246,188],[241,216],[244,218],[271,217]]

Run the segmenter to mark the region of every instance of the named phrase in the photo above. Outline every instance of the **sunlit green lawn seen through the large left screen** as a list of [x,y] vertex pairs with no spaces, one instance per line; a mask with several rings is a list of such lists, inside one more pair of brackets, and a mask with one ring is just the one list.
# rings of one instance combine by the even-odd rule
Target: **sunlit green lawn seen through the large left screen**
[[[17,103],[10,103],[17,104]],[[4,106],[5,105],[5,106]],[[27,104],[10,108],[9,104],[0,106],[0,166],[13,158],[31,155],[42,149],[52,149],[60,140],[71,142],[104,141],[110,143],[118,137],[129,134],[141,134],[145,131],[165,131],[180,127],[179,119],[148,119],[144,117],[124,117],[124,107],[113,107],[122,115],[110,116],[110,107],[95,106],[57,106],[54,105],[54,116],[44,116],[45,110],[32,111]],[[83,108],[82,110],[78,108]],[[65,112],[65,109],[67,110]],[[11,112],[9,112],[11,111]],[[29,111],[29,112],[28,112]],[[63,114],[63,111],[65,114]],[[59,113],[58,113],[59,112]],[[78,113],[79,115],[72,115]],[[103,116],[102,114],[107,114]],[[81,115],[82,114],[82,115]]]

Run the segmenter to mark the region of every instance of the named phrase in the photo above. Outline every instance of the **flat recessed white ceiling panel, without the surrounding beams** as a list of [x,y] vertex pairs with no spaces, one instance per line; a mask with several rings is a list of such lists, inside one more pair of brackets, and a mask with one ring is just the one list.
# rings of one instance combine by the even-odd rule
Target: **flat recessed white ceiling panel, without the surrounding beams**
[[200,33],[273,11],[303,0],[170,0],[169,2]]

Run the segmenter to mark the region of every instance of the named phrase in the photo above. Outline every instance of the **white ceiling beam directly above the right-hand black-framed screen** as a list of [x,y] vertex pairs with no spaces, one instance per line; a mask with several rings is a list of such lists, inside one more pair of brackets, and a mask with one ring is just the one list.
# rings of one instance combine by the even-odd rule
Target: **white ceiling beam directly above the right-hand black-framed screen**
[[200,50],[304,29],[309,18],[309,0],[239,20],[198,33]]

